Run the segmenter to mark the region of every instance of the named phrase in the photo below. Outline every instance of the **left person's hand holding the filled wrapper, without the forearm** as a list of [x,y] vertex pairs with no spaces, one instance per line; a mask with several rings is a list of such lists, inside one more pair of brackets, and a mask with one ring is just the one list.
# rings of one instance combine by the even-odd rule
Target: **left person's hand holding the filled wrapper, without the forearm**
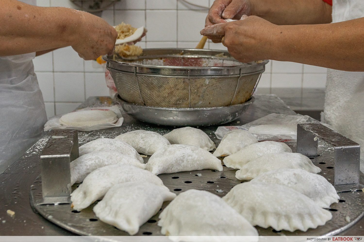
[[118,33],[105,20],[90,13],[79,11],[81,24],[72,48],[84,60],[95,60],[104,54],[111,55]]

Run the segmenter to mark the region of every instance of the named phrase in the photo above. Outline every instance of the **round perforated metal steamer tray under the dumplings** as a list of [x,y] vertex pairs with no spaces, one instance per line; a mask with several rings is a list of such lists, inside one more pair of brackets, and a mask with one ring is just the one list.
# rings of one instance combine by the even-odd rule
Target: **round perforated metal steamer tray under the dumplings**
[[[296,143],[286,143],[296,152]],[[313,164],[320,167],[322,171],[318,174],[324,176],[327,180],[333,180],[333,148],[326,146],[327,144],[320,144],[318,152],[320,155],[310,157]],[[144,161],[147,162],[150,156],[145,157]],[[240,184],[243,181],[237,180],[235,177],[236,169],[223,167],[223,171],[219,172],[211,169],[204,169],[201,171],[188,171],[178,172],[171,174],[158,175],[171,192],[179,194],[189,189],[206,190],[220,197],[226,195],[230,189]],[[360,183],[363,184],[364,176],[360,173]],[[72,186],[72,191],[76,189],[78,184]],[[37,210],[44,218],[79,235],[88,235],[95,237],[102,237],[103,241],[115,241],[107,236],[124,236],[129,235],[125,231],[119,230],[116,227],[104,223],[95,216],[92,208],[98,201],[90,205],[88,208],[80,212],[73,210],[70,204],[59,205],[36,205],[42,197],[41,178],[40,176],[33,182],[31,186],[31,205]],[[276,231],[272,227],[264,229],[255,226],[260,236],[332,236],[344,231],[348,227],[360,220],[364,215],[364,193],[358,192],[340,192],[339,203],[334,203],[328,209],[332,213],[332,219],[327,221],[325,225],[318,226],[316,229],[308,229],[306,232],[296,230],[289,232],[286,230]],[[157,214],[151,217],[145,224],[143,224],[137,236],[151,236],[161,234],[161,227],[157,225],[158,216],[161,211],[169,204],[164,202],[162,208]],[[218,229],[218,228],[216,228]],[[137,240],[135,240],[137,241]]]

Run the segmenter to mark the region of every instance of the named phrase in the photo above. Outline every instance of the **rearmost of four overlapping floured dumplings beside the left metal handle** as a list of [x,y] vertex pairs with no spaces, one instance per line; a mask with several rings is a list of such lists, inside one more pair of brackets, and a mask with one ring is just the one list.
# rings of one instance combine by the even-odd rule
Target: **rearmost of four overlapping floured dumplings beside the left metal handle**
[[108,138],[95,139],[84,145],[81,145],[78,149],[80,156],[93,151],[118,151],[124,155],[139,160],[140,163],[144,163],[143,158],[140,157],[138,152],[131,145],[128,145],[121,140]]

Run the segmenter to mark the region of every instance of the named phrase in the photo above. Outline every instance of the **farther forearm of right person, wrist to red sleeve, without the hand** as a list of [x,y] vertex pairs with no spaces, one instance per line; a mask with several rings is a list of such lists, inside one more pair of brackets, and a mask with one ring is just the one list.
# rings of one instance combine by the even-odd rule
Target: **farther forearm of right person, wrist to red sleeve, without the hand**
[[277,25],[327,24],[331,6],[323,0],[251,0],[252,15]]

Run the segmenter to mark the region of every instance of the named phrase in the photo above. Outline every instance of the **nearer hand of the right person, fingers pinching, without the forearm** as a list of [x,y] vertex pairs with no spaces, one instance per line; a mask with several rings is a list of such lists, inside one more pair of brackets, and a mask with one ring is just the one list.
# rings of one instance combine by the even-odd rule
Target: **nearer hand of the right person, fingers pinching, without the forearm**
[[272,55],[276,49],[273,40],[280,32],[278,25],[257,16],[244,15],[240,21],[206,26],[200,33],[209,38],[225,36],[223,45],[229,53],[236,60],[247,63],[273,59]]

